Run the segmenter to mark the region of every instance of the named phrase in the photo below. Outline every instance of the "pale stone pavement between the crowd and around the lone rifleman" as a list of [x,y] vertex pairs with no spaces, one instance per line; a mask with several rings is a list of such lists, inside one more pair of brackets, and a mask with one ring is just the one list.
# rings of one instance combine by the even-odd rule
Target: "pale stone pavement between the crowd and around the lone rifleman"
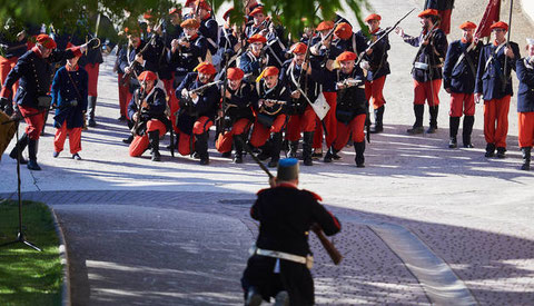
[[[373,6],[388,26],[416,2],[421,7],[400,0]],[[415,14],[402,26],[418,31]],[[352,148],[338,162],[301,167],[300,187],[322,195],[344,227],[334,238],[345,256],[339,266],[312,238],[318,304],[532,304],[534,172],[517,169],[515,98],[506,159],[483,157],[481,106],[476,148],[446,148],[443,90],[438,132],[409,137],[415,49],[395,36],[390,42],[385,132],[367,145],[367,167],[354,166]],[[100,69],[98,127],[82,134],[83,160],[68,151],[52,158],[49,121],[39,152],[43,170],[21,171],[23,198],[51,205],[63,227],[73,304],[238,305],[257,231],[248,209],[267,186],[265,174],[250,158],[229,164],[212,141],[209,167],[172,159],[167,150],[162,162],[128,157],[120,141],[128,130],[115,119],[112,60]],[[14,162],[7,155],[0,172],[0,197],[14,197]]]

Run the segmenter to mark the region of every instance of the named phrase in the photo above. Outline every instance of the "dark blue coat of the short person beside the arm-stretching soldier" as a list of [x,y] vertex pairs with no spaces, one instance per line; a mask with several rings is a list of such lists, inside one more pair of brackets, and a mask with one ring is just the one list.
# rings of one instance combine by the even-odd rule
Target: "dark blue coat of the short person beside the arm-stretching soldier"
[[68,71],[63,66],[56,72],[52,81],[52,105],[57,107],[53,117],[56,120],[53,125],[57,128],[66,120],[69,129],[83,127],[82,112],[87,110],[87,87],[88,75],[83,68]]

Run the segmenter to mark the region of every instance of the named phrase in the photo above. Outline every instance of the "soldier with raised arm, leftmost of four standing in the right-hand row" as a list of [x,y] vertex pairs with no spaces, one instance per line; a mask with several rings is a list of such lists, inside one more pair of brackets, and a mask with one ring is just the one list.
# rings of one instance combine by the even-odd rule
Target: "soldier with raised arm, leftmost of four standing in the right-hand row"
[[438,12],[433,9],[424,10],[418,16],[423,31],[418,37],[404,33],[400,27],[395,29],[406,43],[419,47],[414,60],[412,77],[414,78],[414,113],[415,124],[407,130],[408,134],[422,134],[425,100],[428,102],[431,125],[427,134],[437,130],[437,113],[439,110],[439,88],[442,86],[442,67],[447,52],[447,37],[438,28]]

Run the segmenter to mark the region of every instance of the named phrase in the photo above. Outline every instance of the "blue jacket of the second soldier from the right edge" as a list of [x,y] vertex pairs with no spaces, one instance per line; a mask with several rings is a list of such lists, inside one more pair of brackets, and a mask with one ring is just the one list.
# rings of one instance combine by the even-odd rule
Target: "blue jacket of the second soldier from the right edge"
[[[514,95],[514,91],[512,89],[512,78],[510,78],[510,76],[512,69],[515,70],[515,60],[521,58],[521,55],[517,43],[511,41],[510,46],[514,51],[515,58],[508,58],[505,73],[506,76],[508,76],[508,81],[504,90],[504,46],[498,47],[491,42],[485,45],[481,51],[481,58],[478,60],[478,68],[476,72],[475,92],[482,93],[484,96],[484,100],[501,99],[504,96]],[[495,53],[495,51],[497,52]]]

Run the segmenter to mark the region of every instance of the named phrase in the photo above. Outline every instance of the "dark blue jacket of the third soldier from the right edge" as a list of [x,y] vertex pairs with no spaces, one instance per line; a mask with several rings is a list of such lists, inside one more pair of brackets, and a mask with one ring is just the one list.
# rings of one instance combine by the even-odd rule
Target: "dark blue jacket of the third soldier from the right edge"
[[[443,88],[449,88],[456,93],[474,92],[476,67],[483,43],[478,41],[473,47],[469,46],[471,43],[463,43],[461,40],[455,40],[448,46],[443,68]],[[469,49],[468,52],[467,49]]]

